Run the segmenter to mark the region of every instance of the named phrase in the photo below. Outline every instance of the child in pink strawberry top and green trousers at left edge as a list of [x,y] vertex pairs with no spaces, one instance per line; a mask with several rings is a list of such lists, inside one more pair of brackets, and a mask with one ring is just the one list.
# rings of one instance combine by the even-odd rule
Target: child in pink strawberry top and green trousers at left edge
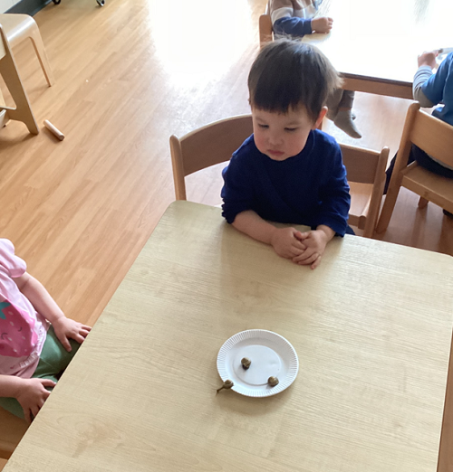
[[0,239],[0,407],[30,423],[91,329],[64,316]]

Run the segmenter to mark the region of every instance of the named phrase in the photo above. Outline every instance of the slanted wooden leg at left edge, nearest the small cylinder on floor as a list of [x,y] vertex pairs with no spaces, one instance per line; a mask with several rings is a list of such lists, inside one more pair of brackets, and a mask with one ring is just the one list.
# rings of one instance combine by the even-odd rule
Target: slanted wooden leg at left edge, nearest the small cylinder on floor
[[10,91],[16,106],[15,109],[7,109],[9,118],[22,121],[28,127],[30,133],[37,135],[39,127],[34,119],[30,102],[25,94],[24,86],[15,68],[14,59],[11,54],[6,54],[0,60],[0,74],[3,80],[5,80],[6,87]]

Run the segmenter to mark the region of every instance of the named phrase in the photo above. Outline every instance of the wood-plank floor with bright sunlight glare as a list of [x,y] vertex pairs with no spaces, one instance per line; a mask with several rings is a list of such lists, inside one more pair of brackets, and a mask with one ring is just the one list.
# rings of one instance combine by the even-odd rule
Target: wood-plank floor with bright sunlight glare
[[[265,2],[209,2],[204,18],[201,0],[106,0],[102,8],[63,0],[35,15],[54,86],[30,44],[14,51],[16,61],[40,126],[49,119],[66,138],[46,129],[34,137],[17,122],[0,130],[0,235],[67,316],[94,323],[174,200],[169,136],[249,111],[246,77]],[[326,129],[341,142],[390,146],[392,155],[409,104],[357,94],[363,138]],[[188,179],[188,196],[217,204],[220,187],[217,166]],[[453,255],[453,221],[417,202],[400,195],[381,239]]]

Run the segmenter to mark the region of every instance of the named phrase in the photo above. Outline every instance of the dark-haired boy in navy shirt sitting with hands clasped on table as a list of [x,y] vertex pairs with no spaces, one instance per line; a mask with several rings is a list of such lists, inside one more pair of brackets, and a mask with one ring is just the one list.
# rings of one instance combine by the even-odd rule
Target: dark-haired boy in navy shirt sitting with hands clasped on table
[[[335,234],[352,232],[340,146],[316,129],[338,85],[332,64],[313,46],[266,44],[248,76],[254,134],[223,171],[226,221],[312,269]],[[305,224],[312,231],[277,229],[266,220]]]

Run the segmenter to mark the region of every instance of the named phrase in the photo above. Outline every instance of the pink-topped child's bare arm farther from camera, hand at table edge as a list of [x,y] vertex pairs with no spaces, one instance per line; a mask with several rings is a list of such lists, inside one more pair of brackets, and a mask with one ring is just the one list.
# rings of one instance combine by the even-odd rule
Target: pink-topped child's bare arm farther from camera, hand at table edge
[[30,300],[34,309],[52,323],[55,334],[68,352],[72,350],[69,339],[82,344],[92,329],[90,326],[82,325],[82,323],[64,316],[62,309],[58,307],[43,284],[28,272],[19,278],[14,278],[14,282],[24,296]]

